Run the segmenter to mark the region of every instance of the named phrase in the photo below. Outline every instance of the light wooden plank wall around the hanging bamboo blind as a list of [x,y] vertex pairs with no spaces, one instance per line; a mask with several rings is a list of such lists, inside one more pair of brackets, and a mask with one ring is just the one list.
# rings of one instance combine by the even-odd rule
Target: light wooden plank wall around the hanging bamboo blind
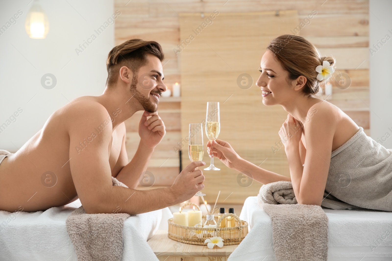
[[[299,25],[308,14],[316,10],[317,15],[310,20],[310,24],[301,29],[299,35],[314,43],[321,54],[335,56],[339,71],[350,77],[351,85],[345,90],[338,88],[339,86],[332,82],[333,91],[328,101],[346,112],[369,135],[368,1],[115,0],[114,5],[115,10],[119,9],[122,12],[115,23],[116,45],[131,38],[158,41],[165,51],[166,60],[163,62],[165,64],[163,71],[165,83],[169,87],[175,82],[182,84],[180,56],[176,56],[173,51],[173,49],[178,49],[181,40],[185,40],[180,39],[180,22],[183,21],[179,16],[180,13],[211,13],[214,10],[219,10],[220,13],[297,10]],[[276,35],[279,35],[278,31]],[[178,147],[178,142],[181,142],[183,136],[181,135],[181,120],[184,119],[181,117],[179,99],[165,98],[164,100],[161,98],[158,112],[165,121],[168,132],[162,144],[157,147],[148,169],[156,178],[153,187],[168,186],[178,175],[178,153],[173,147]],[[272,110],[271,112],[274,113]],[[138,113],[126,122],[128,131],[126,145],[129,159],[133,157],[138,144],[136,126],[140,115]],[[184,148],[185,155],[187,155],[187,146]],[[247,158],[251,155],[245,153],[241,156]],[[254,163],[258,165],[264,158]],[[208,158],[205,160],[208,161]],[[274,164],[279,165],[281,160],[284,160],[284,157]],[[284,170],[284,166],[282,168],[281,174],[289,175],[288,169]],[[210,173],[211,171],[205,173],[206,189],[212,188],[218,180],[213,178],[212,182],[208,182],[209,176],[212,175]],[[236,196],[230,196],[225,202],[241,203],[248,194],[254,195],[258,187],[260,185],[248,188],[247,191]],[[214,190],[217,188],[214,187]],[[225,193],[228,194],[229,190]],[[224,193],[222,192],[221,195],[224,196]],[[225,196],[221,197],[221,200],[223,199]],[[209,200],[208,196],[207,200]]]

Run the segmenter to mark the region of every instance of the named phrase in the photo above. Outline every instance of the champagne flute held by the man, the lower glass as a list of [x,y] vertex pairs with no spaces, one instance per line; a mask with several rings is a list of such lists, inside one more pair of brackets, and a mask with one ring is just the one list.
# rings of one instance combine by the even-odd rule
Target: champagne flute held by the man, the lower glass
[[[191,161],[203,160],[203,126],[201,123],[189,124],[189,158]],[[198,169],[198,168],[196,168]],[[195,196],[205,196],[204,193],[198,191]]]

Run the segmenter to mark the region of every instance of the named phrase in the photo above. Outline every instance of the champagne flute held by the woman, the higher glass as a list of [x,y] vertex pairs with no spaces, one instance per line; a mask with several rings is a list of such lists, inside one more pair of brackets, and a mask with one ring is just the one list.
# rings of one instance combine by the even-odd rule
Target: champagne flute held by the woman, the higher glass
[[[207,138],[211,142],[211,151],[212,150],[212,140],[218,139],[219,131],[220,131],[220,122],[219,122],[219,102],[209,101],[207,103],[207,115],[205,117],[205,133],[207,134]],[[214,166],[214,155],[211,157],[211,165],[204,170],[220,170]]]

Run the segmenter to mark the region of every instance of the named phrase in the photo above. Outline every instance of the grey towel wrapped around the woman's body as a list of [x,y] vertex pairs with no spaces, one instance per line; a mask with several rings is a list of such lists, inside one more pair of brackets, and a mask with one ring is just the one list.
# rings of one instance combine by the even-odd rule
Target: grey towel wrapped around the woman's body
[[332,151],[325,191],[355,208],[392,211],[392,149],[359,127]]

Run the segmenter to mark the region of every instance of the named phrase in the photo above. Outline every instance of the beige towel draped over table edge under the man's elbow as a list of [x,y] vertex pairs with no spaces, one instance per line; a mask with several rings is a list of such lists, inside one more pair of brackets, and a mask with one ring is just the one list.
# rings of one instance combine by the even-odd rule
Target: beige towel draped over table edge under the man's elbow
[[[127,187],[112,177],[113,186]],[[120,261],[123,249],[122,228],[129,214],[86,214],[83,206],[66,220],[67,232],[78,261]]]

